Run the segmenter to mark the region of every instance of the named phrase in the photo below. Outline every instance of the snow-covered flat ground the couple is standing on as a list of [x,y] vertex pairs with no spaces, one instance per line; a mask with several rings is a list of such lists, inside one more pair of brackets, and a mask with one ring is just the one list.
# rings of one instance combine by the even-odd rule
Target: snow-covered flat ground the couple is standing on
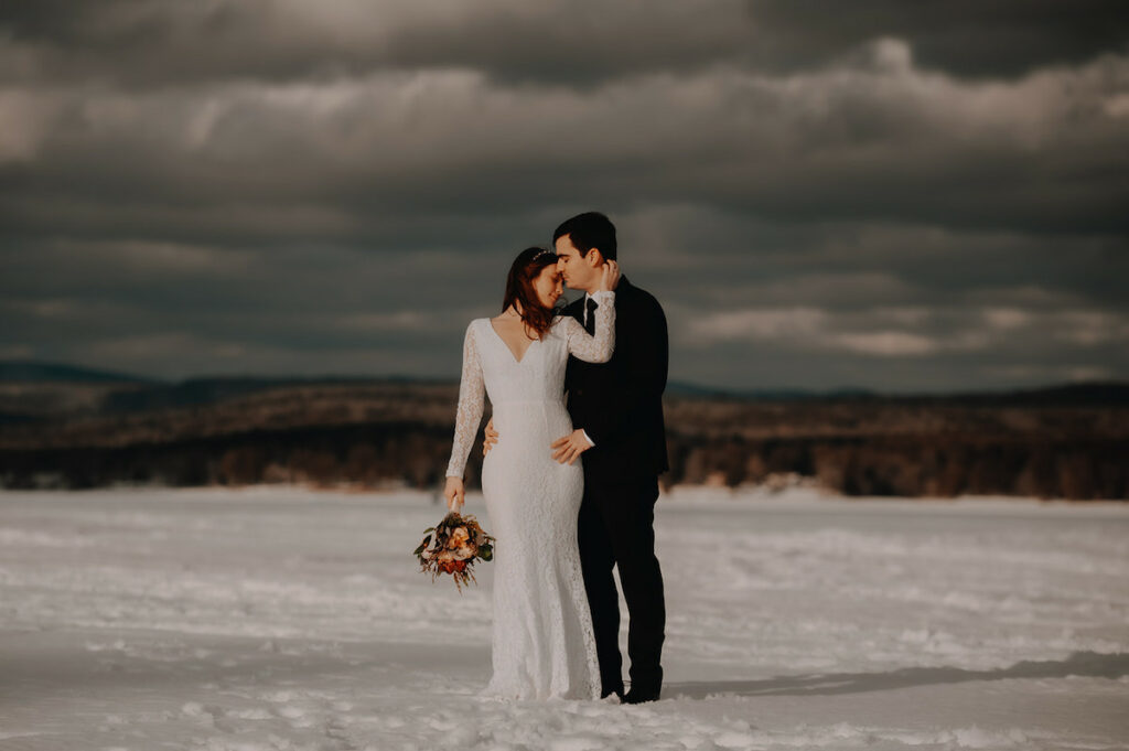
[[0,492],[0,749],[1129,748],[1129,506],[666,495],[642,706],[479,699],[490,566],[460,596],[410,554],[441,514]]

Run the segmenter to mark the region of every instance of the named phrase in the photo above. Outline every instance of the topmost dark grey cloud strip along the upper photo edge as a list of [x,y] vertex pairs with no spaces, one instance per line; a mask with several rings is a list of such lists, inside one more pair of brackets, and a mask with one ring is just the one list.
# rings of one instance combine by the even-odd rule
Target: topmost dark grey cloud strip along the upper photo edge
[[129,86],[417,68],[588,86],[719,63],[813,69],[879,37],[905,40],[927,68],[1014,77],[1123,51],[1129,36],[1117,0],[17,0],[0,21],[10,34],[9,76]]

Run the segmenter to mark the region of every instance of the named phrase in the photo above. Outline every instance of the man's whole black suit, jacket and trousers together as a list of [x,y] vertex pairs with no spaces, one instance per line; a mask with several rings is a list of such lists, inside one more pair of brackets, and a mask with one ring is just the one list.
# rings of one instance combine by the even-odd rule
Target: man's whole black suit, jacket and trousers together
[[[580,298],[564,313],[584,322],[584,305]],[[572,425],[595,443],[581,459],[578,535],[605,692],[623,689],[613,566],[619,566],[630,618],[632,687],[657,691],[663,681],[666,608],[654,522],[658,474],[668,469],[663,421],[667,353],[662,306],[624,277],[615,289],[612,359],[590,364],[569,357],[564,377]]]

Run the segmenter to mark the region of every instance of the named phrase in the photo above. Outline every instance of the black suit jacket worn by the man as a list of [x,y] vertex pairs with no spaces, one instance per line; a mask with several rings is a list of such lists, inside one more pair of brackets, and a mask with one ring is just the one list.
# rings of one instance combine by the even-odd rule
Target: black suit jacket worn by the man
[[[584,323],[584,305],[581,297],[564,315]],[[583,455],[587,477],[597,482],[647,480],[669,469],[663,420],[668,351],[663,307],[621,277],[612,359],[594,364],[569,356],[564,374],[572,425],[595,443]]]

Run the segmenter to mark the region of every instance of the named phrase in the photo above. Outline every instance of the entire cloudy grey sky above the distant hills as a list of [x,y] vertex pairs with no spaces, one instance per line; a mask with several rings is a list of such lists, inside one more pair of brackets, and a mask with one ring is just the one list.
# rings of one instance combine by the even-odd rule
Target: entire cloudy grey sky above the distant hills
[[1129,378],[1123,10],[6,0],[0,359],[454,378],[599,209],[672,378]]

